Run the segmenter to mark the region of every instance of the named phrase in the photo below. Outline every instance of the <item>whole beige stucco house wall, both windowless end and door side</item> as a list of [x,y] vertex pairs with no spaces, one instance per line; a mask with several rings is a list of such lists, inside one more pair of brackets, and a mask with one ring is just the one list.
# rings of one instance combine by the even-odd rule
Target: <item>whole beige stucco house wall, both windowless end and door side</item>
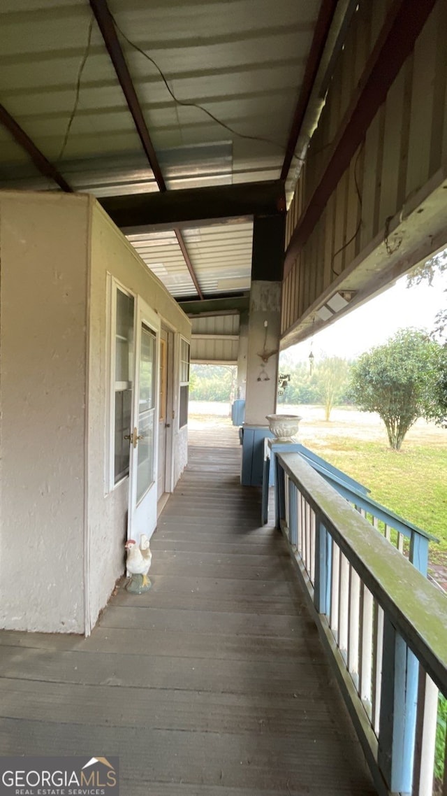
[[[191,325],[91,197],[0,193],[0,257],[0,626],[88,633],[124,572],[128,479],[109,490],[106,466],[108,275],[175,328],[177,349]],[[186,441],[176,428],[176,478]]]

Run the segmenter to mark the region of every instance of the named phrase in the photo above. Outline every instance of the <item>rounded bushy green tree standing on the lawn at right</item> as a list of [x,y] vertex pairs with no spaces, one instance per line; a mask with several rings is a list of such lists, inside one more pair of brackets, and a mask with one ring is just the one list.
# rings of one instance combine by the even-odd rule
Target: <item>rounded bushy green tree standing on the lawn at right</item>
[[351,395],[361,412],[377,412],[391,448],[400,451],[419,417],[441,419],[439,384],[445,352],[422,330],[401,329],[352,366]]

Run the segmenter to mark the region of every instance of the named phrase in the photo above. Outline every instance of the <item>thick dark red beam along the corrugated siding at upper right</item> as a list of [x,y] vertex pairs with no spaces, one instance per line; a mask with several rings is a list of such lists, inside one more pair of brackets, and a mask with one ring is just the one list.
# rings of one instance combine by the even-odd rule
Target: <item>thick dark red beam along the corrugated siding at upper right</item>
[[414,48],[435,2],[436,0],[395,0],[388,11],[378,40],[340,123],[325,172],[290,239],[286,251],[286,275],[298,252],[309,240],[329,197],[363,141],[372,119],[385,101],[402,64]]

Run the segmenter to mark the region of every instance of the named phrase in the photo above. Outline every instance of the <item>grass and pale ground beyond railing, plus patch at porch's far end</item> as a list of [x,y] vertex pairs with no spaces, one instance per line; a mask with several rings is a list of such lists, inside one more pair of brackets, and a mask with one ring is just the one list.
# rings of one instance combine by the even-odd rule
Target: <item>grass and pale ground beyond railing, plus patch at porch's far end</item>
[[[215,411],[213,404],[200,404],[190,421],[199,427],[231,423],[229,405],[220,405],[220,417]],[[300,415],[301,443],[367,486],[376,501],[437,537],[430,564],[447,568],[447,430],[418,420],[396,452],[377,415],[338,407],[325,422],[322,407],[282,405],[278,412]]]

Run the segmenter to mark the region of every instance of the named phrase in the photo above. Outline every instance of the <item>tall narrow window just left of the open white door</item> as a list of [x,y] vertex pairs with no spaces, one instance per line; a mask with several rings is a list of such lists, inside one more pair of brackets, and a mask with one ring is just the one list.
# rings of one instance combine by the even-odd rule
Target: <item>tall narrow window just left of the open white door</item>
[[134,298],[116,288],[114,483],[129,474],[134,369]]

